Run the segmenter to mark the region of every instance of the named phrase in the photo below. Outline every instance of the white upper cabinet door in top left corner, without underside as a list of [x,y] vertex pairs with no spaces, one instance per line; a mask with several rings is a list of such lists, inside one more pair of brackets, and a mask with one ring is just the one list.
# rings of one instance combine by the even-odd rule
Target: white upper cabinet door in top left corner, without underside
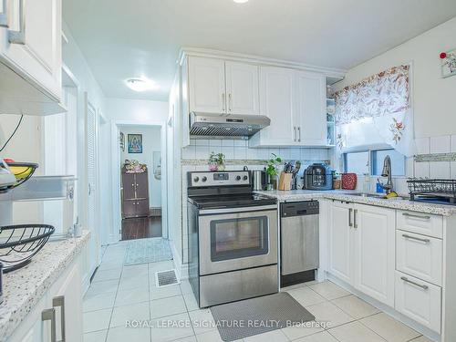
[[60,100],[61,0],[7,3],[10,5],[9,28],[0,29],[0,60],[23,76],[36,80],[49,95]]

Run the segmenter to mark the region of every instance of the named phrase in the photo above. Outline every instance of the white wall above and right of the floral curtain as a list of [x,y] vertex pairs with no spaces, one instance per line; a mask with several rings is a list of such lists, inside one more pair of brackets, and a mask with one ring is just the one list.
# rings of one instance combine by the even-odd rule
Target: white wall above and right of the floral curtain
[[416,138],[454,134],[456,77],[441,78],[439,58],[440,52],[453,48],[456,48],[456,17],[353,67],[335,88],[344,88],[389,67],[411,62]]

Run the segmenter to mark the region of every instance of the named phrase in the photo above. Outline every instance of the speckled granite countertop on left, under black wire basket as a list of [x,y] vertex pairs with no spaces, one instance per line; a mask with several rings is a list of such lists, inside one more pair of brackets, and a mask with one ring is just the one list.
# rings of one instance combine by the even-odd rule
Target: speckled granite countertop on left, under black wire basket
[[90,233],[81,237],[48,242],[25,267],[3,275],[3,303],[0,305],[0,341],[15,331],[88,243]]

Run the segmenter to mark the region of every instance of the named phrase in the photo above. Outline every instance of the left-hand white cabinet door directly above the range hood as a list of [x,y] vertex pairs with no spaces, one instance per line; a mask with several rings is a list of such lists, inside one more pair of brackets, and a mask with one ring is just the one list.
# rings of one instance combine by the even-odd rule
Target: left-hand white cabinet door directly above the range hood
[[189,57],[189,102],[191,112],[226,113],[222,59]]

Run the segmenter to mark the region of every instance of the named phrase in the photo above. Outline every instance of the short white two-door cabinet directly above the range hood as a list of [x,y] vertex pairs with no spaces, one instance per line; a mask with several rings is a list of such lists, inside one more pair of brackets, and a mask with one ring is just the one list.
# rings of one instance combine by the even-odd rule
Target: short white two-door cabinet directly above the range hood
[[259,114],[258,66],[189,57],[190,111]]

